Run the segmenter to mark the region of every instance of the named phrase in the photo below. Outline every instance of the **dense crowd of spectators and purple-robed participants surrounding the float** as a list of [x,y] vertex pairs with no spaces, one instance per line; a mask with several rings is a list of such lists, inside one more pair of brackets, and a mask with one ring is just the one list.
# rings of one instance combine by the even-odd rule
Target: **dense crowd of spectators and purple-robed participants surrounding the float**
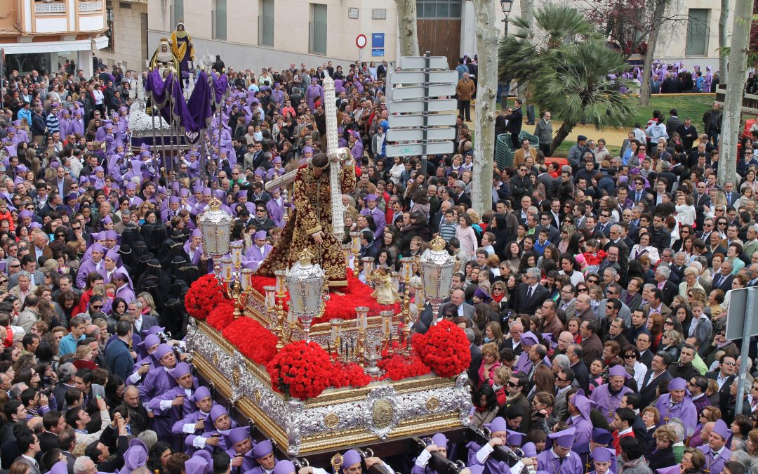
[[[462,102],[475,92],[467,71]],[[738,394],[736,370],[742,357],[752,367],[758,346],[741,354],[725,324],[731,290],[758,284],[758,131],[723,187],[718,131],[697,133],[674,110],[637,124],[618,155],[578,137],[565,166],[525,140],[493,173],[491,209],[479,214],[468,103],[453,154],[422,169],[385,155],[386,63],[227,74],[205,168],[199,146],[171,165],[147,144],[127,154],[130,79],[144,74],[11,74],[0,117],[2,469],[324,472],[277,460],[199,384],[183,296],[209,271],[196,219],[211,198],[236,218],[246,265],[276,248],[291,203],[264,185],[325,151],[324,101],[334,100],[355,161],[343,203],[359,256],[398,268],[438,235],[460,263],[440,318],[471,341],[471,426],[489,432],[455,445],[437,434],[407,470],[431,472],[436,453],[492,474],[752,471],[758,380]],[[327,74],[335,97],[324,96]],[[521,129],[521,105],[503,133]],[[550,140],[541,112],[535,133]],[[431,317],[422,311],[415,330]],[[388,464],[404,470],[348,451],[341,472]]]

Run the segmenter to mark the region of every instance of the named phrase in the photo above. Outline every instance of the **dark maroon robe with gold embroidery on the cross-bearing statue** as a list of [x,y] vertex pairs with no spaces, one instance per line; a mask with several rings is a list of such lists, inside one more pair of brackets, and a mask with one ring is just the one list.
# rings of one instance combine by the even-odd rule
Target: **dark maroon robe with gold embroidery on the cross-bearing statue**
[[[341,194],[356,189],[355,165],[343,165],[340,181]],[[298,168],[293,183],[293,208],[276,246],[256,273],[274,276],[275,270],[289,269],[299,259],[300,253],[308,249],[316,256],[314,263],[324,268],[330,287],[347,286],[342,243],[337,241],[332,232],[329,168],[318,178],[310,165]],[[323,245],[318,245],[311,237],[318,231],[323,232]]]

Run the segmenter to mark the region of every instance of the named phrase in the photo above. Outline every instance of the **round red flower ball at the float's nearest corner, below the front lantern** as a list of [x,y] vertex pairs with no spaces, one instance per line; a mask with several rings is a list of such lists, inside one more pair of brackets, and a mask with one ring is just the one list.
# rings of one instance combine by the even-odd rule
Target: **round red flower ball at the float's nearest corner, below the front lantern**
[[266,364],[275,391],[305,400],[318,397],[330,385],[331,360],[315,342],[294,341]]

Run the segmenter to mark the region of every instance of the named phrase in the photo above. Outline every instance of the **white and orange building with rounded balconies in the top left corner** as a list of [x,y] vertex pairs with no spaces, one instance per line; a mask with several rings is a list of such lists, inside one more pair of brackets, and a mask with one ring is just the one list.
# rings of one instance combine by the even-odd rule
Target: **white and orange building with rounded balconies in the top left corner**
[[6,73],[49,73],[73,62],[89,77],[93,57],[108,46],[105,0],[0,0],[0,11]]

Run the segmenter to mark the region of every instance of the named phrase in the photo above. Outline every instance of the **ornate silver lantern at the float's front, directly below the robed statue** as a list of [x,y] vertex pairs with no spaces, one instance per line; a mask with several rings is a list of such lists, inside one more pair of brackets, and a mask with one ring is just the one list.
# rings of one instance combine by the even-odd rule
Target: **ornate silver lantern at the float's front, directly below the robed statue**
[[311,341],[311,322],[324,312],[324,269],[312,264],[314,258],[309,250],[300,254],[287,274],[287,289],[290,290],[290,312],[299,319],[305,332],[305,342]]

